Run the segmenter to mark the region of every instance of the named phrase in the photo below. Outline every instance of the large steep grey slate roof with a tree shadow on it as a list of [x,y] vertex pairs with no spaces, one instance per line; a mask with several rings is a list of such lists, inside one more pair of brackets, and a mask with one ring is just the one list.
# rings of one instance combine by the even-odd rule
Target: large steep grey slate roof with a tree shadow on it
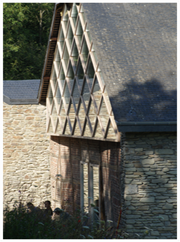
[[[56,4],[50,38],[59,28],[56,15],[62,5]],[[82,5],[117,124],[176,124],[177,4]],[[45,101],[41,93],[47,92],[49,82],[43,78],[40,102]]]

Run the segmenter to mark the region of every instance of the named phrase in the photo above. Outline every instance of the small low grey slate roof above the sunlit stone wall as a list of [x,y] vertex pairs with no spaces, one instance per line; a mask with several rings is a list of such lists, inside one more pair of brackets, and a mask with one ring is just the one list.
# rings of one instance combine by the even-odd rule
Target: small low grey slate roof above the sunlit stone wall
[[3,101],[8,104],[37,104],[40,80],[3,81]]

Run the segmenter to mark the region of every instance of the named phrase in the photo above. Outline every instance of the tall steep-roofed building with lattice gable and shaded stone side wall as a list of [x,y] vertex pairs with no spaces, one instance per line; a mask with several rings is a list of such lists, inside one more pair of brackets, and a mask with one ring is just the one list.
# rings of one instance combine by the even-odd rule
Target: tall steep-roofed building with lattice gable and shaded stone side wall
[[[55,5],[38,100],[51,201],[176,238],[175,3]],[[148,228],[148,229],[147,229]]]

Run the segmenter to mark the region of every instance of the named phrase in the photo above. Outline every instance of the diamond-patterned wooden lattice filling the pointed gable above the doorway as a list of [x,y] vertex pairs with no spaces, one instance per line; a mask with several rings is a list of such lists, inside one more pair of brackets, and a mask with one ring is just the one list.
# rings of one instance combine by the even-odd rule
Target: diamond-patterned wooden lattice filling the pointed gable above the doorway
[[46,103],[49,134],[118,139],[81,4],[64,4]]

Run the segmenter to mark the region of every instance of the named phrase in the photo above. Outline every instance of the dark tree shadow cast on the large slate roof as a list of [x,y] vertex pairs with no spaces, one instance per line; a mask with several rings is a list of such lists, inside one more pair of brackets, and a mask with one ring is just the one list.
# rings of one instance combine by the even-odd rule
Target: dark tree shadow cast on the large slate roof
[[119,90],[118,94],[110,98],[114,115],[121,122],[176,121],[175,88],[171,83],[165,83],[163,86],[155,78],[145,83],[131,79],[123,85],[123,90]]

